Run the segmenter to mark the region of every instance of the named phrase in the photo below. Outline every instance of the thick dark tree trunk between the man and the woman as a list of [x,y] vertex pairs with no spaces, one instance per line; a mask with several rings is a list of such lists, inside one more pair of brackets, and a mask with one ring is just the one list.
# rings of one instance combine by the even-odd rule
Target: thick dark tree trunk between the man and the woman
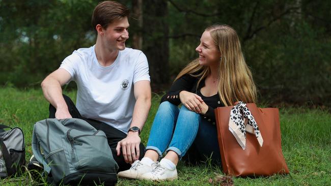
[[143,51],[147,56],[151,83],[160,85],[169,80],[169,25],[167,1],[144,1]]

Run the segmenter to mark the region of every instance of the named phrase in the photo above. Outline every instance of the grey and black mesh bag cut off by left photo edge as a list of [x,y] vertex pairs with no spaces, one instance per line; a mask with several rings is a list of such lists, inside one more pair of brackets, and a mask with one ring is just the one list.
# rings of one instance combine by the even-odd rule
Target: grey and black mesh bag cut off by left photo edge
[[[5,131],[9,128],[11,130]],[[20,174],[25,165],[24,135],[20,128],[0,125],[0,177]]]

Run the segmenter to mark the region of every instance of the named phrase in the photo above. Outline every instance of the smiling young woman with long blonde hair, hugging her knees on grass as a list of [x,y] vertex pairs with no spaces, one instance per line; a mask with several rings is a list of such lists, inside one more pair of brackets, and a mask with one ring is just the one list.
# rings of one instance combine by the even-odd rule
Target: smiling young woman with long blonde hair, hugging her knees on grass
[[[220,162],[214,108],[254,103],[256,87],[232,27],[207,27],[196,51],[199,58],[178,74],[161,99],[144,158],[119,172],[120,177],[176,179],[176,165],[189,148],[185,157],[190,161],[211,157]],[[166,156],[157,162],[163,152]]]

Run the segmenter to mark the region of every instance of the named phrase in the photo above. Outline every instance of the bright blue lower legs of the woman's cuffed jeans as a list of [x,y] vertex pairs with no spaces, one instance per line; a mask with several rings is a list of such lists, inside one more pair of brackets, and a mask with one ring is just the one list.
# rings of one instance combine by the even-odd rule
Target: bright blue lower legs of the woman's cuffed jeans
[[170,102],[162,102],[156,112],[146,150],[155,150],[159,157],[164,151],[172,150],[181,159],[196,138],[200,120],[200,114],[185,106],[179,109]]

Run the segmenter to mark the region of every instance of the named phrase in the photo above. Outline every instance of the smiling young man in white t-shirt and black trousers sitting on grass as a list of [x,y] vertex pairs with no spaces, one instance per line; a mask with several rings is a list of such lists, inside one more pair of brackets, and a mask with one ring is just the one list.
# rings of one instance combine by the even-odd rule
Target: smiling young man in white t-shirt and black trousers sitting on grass
[[[129,10],[117,2],[97,5],[92,15],[96,44],[75,50],[41,83],[49,116],[82,118],[104,131],[119,171],[143,157],[139,134],[151,107],[147,58],[125,47],[128,17]],[[62,95],[61,86],[70,81],[77,84],[76,106]]]

